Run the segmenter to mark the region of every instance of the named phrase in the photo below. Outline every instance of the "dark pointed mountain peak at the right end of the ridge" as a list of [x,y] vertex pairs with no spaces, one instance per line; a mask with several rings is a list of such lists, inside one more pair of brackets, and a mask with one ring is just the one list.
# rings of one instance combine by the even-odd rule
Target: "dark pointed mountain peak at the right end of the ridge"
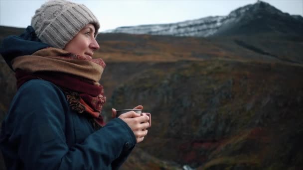
[[258,1],[232,11],[216,35],[303,34],[303,18],[283,13],[269,3]]

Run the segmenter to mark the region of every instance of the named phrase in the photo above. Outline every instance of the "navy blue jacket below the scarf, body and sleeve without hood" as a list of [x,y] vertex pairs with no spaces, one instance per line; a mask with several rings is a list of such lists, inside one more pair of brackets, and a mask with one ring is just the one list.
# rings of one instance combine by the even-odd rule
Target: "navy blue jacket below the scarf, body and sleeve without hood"
[[135,143],[120,118],[94,131],[86,117],[70,109],[63,91],[44,80],[19,88],[0,134],[8,170],[118,169]]

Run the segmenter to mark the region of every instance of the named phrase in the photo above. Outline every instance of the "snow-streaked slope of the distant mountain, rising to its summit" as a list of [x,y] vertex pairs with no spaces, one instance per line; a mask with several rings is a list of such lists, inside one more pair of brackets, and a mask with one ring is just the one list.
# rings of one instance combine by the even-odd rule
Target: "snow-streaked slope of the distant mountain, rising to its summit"
[[[264,14],[266,13],[266,14]],[[195,20],[187,20],[168,24],[151,24],[139,26],[123,26],[105,33],[129,33],[129,34],[152,34],[173,36],[198,36],[207,37],[216,33],[226,32],[239,22],[249,22],[254,18],[262,18],[264,15],[275,15],[279,17],[291,17],[301,20],[302,16],[289,15],[261,0],[255,4],[249,4],[230,12],[227,16],[208,16]],[[227,31],[228,32],[228,31]]]

